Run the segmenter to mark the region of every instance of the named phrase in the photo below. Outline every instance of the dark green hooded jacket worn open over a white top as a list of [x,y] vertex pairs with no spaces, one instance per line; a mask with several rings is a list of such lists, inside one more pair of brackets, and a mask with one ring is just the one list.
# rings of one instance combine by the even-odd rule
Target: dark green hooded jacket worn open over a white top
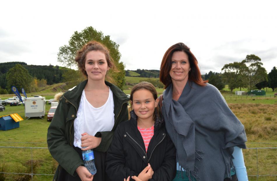
[[[83,160],[73,148],[74,142],[74,120],[77,117],[81,96],[87,80],[81,82],[71,91],[65,92],[59,99],[59,104],[55,111],[47,133],[47,144],[52,157],[57,160],[59,166],[54,175],[55,181],[60,168],[64,168],[70,175],[76,176],[76,168],[84,165]],[[127,102],[129,99],[117,86],[106,82],[113,92],[115,124],[112,131],[101,131],[95,134],[101,137],[101,143],[94,148],[99,152],[106,152],[111,144],[113,133],[119,123],[128,120]]]

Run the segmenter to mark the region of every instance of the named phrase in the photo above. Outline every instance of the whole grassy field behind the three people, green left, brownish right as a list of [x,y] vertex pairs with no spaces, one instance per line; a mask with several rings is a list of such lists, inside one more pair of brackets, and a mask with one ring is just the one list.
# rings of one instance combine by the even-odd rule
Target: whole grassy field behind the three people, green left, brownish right
[[[133,77],[132,77],[133,78]],[[128,79],[128,77],[127,77]],[[134,78],[133,81],[139,81],[143,78]],[[145,78],[146,79],[146,78]],[[46,99],[53,98],[52,88],[36,92],[31,95],[42,95]],[[130,89],[124,90],[126,94],[130,94]],[[58,90],[57,90],[58,92]],[[163,89],[157,89],[158,94],[162,94]],[[222,93],[229,107],[235,115],[241,120],[245,126],[248,137],[247,147],[277,147],[277,97],[273,94],[267,96],[234,96],[230,93]],[[7,99],[9,96],[1,96],[1,99]],[[0,116],[11,113],[18,113],[23,121],[20,127],[8,131],[0,131],[0,146],[18,146],[18,147],[47,147],[46,135],[50,122],[44,119],[31,118],[25,120],[24,106],[5,106],[6,110],[0,112]],[[49,110],[50,105],[46,105]],[[22,143],[15,143],[22,142]],[[32,143],[26,143],[32,142]],[[261,143],[267,144],[261,144]],[[259,175],[277,173],[277,149],[247,149],[243,150],[245,164],[248,175],[257,174],[257,157]],[[30,163],[33,157],[33,173],[53,174],[57,166],[57,162],[51,157],[48,149],[32,149],[29,148],[0,148],[0,170],[4,172],[14,173],[31,173]],[[6,180],[22,180],[17,174],[6,174]],[[1,175],[0,175],[1,178]],[[35,181],[51,180],[52,176],[34,175]],[[255,176],[248,177],[249,180],[257,180]],[[277,180],[277,176],[261,176],[261,181]],[[1,181],[1,180],[0,180]]]

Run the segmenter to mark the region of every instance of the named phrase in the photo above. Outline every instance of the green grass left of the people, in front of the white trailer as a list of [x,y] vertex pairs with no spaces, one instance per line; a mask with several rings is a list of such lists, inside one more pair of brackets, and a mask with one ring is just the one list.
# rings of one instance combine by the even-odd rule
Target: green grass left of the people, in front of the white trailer
[[[0,131],[0,142],[38,142],[38,143],[0,143],[1,146],[18,147],[47,147],[46,135],[50,122],[47,122],[47,113],[43,119],[30,118],[26,120],[24,106],[5,106],[6,110],[0,112],[0,116],[18,113],[24,120],[20,121],[19,128]],[[46,104],[46,111],[50,104]],[[53,167],[57,164],[50,155],[48,149],[33,149],[34,163],[38,163],[33,173],[53,174]],[[1,162],[7,164],[5,172],[30,173],[27,167],[30,165],[31,150],[27,148],[0,148]],[[6,180],[17,180],[16,174],[6,174]],[[52,176],[34,176],[34,180],[51,180]]]

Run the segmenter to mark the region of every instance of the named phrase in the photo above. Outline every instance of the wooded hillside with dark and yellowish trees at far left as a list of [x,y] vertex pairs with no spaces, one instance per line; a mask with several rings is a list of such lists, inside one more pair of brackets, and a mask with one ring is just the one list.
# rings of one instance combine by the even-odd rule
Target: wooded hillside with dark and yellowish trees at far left
[[27,65],[25,62],[0,64],[0,94],[12,93],[11,87],[24,88],[26,92],[36,92],[39,88],[63,81],[65,70],[59,66]]

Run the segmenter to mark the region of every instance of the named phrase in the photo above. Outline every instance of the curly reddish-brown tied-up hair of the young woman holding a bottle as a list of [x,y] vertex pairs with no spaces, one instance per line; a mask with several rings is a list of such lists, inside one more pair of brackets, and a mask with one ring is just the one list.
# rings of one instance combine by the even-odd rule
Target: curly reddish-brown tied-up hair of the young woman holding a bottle
[[[118,72],[118,69],[116,68],[113,58],[110,56],[110,52],[108,48],[97,42],[97,41],[90,41],[86,43],[80,50],[77,51],[75,61],[78,64],[78,68],[83,73],[83,75],[87,78],[87,72],[85,71],[85,59],[87,56],[87,53],[90,51],[100,51],[105,54],[108,66],[113,70],[114,72]],[[108,71],[109,72],[109,71]],[[109,73],[106,73],[106,79],[110,82],[114,83],[113,78],[109,75]]]

